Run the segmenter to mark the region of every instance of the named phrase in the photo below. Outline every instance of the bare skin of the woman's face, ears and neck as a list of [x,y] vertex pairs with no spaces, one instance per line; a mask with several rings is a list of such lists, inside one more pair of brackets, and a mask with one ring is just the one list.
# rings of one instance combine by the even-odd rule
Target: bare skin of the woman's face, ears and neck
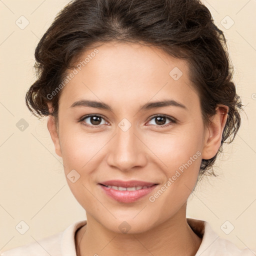
[[[87,224],[75,236],[76,248],[79,246],[82,256],[194,255],[201,238],[186,221],[187,198],[196,184],[201,159],[217,153],[227,117],[223,113],[228,107],[219,105],[204,126],[185,60],[134,43],[111,41],[96,48],[99,52],[63,87],[58,124],[52,116],[47,122],[65,175],[72,169],[80,174],[74,183],[67,178],[87,216]],[[92,50],[84,52],[81,59]],[[183,73],[178,80],[169,75],[174,67]],[[81,99],[104,102],[112,111],[70,107]],[[186,109],[171,105],[139,111],[148,101],[165,99],[174,99]],[[97,127],[92,127],[95,124],[90,118],[79,121],[87,114],[102,116]],[[171,124],[161,127],[152,118],[155,114],[165,114],[177,122],[165,119],[163,124]],[[127,131],[118,127],[123,118],[131,124]],[[197,151],[200,156],[150,202],[149,196]],[[98,185],[110,179],[159,185],[139,200],[123,203],[108,197]],[[130,226],[127,233],[118,228],[123,221]]]

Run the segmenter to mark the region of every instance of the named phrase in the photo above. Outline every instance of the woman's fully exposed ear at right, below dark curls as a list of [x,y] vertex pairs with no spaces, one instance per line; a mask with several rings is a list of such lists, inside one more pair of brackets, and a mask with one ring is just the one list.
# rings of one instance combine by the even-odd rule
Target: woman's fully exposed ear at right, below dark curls
[[210,123],[206,127],[202,159],[212,158],[221,146],[227,113],[228,106],[221,104],[216,107],[216,113],[212,116]]

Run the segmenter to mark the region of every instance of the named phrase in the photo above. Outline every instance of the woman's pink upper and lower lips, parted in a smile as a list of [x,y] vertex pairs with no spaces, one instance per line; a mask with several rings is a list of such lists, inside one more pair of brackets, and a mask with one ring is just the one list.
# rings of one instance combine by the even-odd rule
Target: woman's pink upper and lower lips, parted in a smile
[[[118,202],[134,202],[139,198],[147,195],[150,193],[156,186],[156,183],[152,182],[145,182],[139,180],[129,180],[129,181],[122,181],[122,180],[107,180],[101,183],[98,183],[101,189],[111,197],[112,199]],[[132,187],[132,186],[148,186],[147,188],[141,188],[138,190],[116,190],[111,187],[106,187],[106,185],[113,185],[113,186],[123,186],[123,187]]]

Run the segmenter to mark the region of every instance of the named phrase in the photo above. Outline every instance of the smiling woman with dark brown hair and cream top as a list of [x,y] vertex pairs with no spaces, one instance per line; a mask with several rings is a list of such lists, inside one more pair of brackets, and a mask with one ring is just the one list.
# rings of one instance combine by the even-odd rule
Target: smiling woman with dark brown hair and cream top
[[254,255],[186,203],[240,126],[225,38],[198,0],[74,0],[36,50],[28,108],[87,221],[8,255]]

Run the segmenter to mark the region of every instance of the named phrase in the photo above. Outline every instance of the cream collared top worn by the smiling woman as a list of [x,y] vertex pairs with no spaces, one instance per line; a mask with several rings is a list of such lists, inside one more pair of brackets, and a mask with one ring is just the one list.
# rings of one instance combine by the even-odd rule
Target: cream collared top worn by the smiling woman
[[[255,256],[249,248],[239,249],[229,240],[220,238],[204,220],[186,218],[193,231],[202,238],[195,256]],[[0,251],[0,256],[75,256],[75,231],[86,220],[69,225],[64,231],[16,248]]]

